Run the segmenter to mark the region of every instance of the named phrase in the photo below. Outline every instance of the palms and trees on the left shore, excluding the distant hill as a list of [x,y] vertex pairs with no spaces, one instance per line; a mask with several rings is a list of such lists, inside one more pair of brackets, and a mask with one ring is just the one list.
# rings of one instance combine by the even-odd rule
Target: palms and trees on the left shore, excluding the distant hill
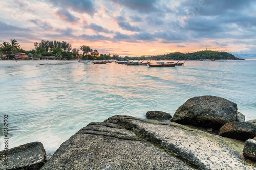
[[3,54],[7,54],[8,59],[13,59],[15,53],[26,53],[29,57],[42,56],[55,56],[56,59],[62,60],[76,60],[76,59],[86,59],[86,60],[110,60],[110,59],[120,59],[119,55],[113,54],[99,54],[97,49],[92,49],[87,45],[81,45],[79,48],[73,48],[70,43],[66,41],[45,41],[34,43],[34,49],[23,50],[17,40],[11,39],[10,42],[2,42],[0,44],[0,57]]

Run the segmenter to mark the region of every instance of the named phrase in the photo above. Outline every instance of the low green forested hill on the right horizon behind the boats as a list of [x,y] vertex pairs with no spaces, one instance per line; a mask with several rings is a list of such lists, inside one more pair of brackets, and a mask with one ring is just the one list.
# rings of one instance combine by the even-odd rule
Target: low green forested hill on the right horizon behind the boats
[[242,60],[227,52],[217,52],[211,50],[204,50],[194,53],[169,53],[159,56],[154,56],[155,59],[174,59],[174,60]]

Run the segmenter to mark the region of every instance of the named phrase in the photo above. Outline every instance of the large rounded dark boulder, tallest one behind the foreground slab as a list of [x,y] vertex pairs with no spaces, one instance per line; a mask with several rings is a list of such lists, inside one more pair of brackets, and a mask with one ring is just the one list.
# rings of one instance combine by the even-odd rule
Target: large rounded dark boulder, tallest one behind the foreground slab
[[236,103],[216,96],[201,96],[188,99],[176,110],[171,121],[219,129],[236,117]]

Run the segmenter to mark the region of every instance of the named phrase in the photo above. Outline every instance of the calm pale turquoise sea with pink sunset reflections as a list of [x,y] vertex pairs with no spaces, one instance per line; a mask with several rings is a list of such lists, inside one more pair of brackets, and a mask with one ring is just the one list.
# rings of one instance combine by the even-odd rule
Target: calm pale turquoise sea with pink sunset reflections
[[176,67],[2,60],[0,88],[0,150],[5,141],[7,148],[39,141],[51,155],[90,122],[114,115],[145,119],[153,110],[173,116],[186,100],[202,95],[228,99],[246,120],[256,119],[252,59]]

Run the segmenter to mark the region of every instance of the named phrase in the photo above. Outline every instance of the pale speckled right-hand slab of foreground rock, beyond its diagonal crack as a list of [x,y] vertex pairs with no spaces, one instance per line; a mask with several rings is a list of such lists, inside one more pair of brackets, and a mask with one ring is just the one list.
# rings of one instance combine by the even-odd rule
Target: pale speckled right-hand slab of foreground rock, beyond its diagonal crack
[[239,140],[212,135],[175,122],[157,123],[130,116],[113,116],[105,122],[133,131],[137,136],[196,169],[256,168],[255,162],[244,160],[244,143]]

